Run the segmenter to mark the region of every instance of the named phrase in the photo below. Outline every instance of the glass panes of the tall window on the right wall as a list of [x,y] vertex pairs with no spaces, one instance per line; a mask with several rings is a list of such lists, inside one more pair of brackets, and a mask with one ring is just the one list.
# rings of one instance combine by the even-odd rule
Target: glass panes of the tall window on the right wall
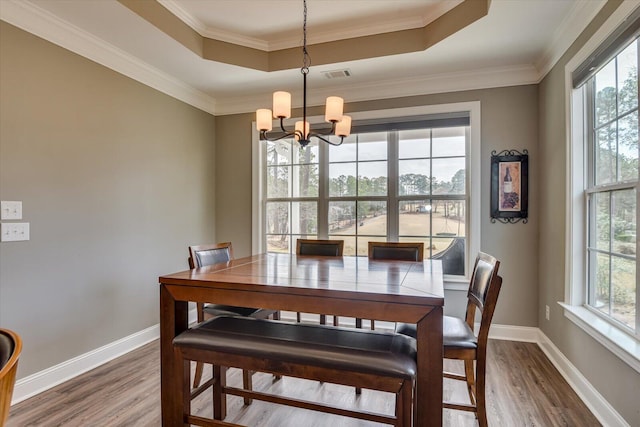
[[587,304],[638,335],[638,39],[584,84]]

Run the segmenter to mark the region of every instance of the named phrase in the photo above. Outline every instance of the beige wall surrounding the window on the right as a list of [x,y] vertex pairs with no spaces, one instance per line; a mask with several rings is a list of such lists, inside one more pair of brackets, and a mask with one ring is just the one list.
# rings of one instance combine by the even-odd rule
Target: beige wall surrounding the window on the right
[[[564,317],[557,302],[565,291],[566,114],[564,68],[619,1],[605,5],[591,25],[540,84],[539,327],[632,426],[640,426],[640,374]],[[551,309],[544,318],[545,305]]]

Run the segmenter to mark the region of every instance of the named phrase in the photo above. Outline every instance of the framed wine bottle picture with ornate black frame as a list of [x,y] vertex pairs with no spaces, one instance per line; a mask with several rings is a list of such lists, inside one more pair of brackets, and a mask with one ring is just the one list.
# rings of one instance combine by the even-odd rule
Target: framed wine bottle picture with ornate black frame
[[491,152],[491,222],[528,221],[529,152]]

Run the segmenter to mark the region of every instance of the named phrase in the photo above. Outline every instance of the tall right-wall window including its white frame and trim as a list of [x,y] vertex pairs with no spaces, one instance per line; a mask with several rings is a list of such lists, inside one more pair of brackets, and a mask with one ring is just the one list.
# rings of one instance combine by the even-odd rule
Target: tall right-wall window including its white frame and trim
[[565,69],[570,116],[565,315],[640,372],[640,9],[619,7]]

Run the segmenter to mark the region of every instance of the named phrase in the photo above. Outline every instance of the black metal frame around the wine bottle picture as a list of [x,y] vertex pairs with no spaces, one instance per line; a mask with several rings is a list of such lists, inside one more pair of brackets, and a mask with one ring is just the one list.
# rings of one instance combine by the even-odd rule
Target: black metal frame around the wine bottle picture
[[[520,163],[520,210],[502,209],[500,206],[500,163]],[[529,215],[529,152],[517,150],[502,150],[499,153],[491,152],[491,222],[496,221],[505,224],[515,224],[522,221],[528,222]]]

